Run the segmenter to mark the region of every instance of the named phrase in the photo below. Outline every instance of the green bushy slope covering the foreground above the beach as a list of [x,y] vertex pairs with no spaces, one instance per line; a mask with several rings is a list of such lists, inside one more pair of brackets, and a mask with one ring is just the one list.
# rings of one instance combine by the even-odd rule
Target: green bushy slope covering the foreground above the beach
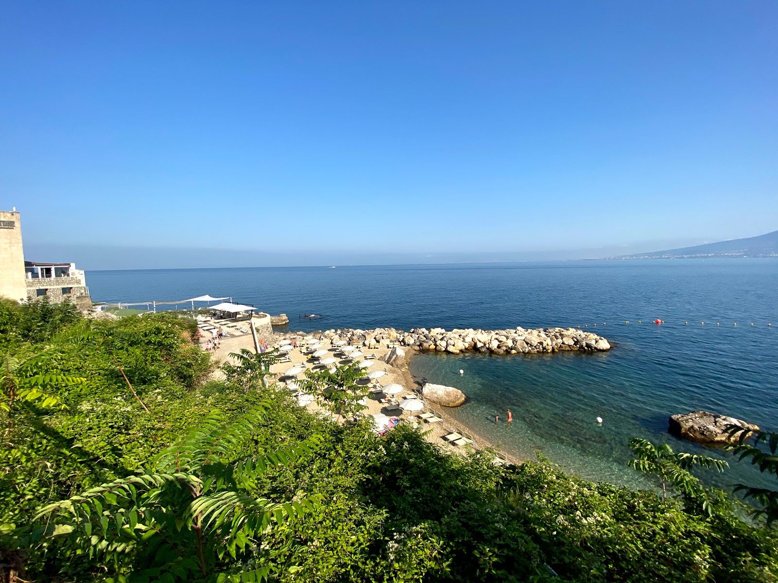
[[261,375],[207,382],[194,333],[0,303],[5,581],[776,581],[776,537],[723,493],[336,424]]

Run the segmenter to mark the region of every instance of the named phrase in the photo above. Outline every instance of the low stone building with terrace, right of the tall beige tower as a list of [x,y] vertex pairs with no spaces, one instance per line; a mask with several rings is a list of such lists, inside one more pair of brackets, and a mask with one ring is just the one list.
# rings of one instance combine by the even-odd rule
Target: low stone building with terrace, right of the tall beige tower
[[75,264],[44,264],[25,261],[27,299],[46,297],[49,302],[60,303],[70,299],[79,309],[92,309],[92,298],[86,287],[82,269]]

